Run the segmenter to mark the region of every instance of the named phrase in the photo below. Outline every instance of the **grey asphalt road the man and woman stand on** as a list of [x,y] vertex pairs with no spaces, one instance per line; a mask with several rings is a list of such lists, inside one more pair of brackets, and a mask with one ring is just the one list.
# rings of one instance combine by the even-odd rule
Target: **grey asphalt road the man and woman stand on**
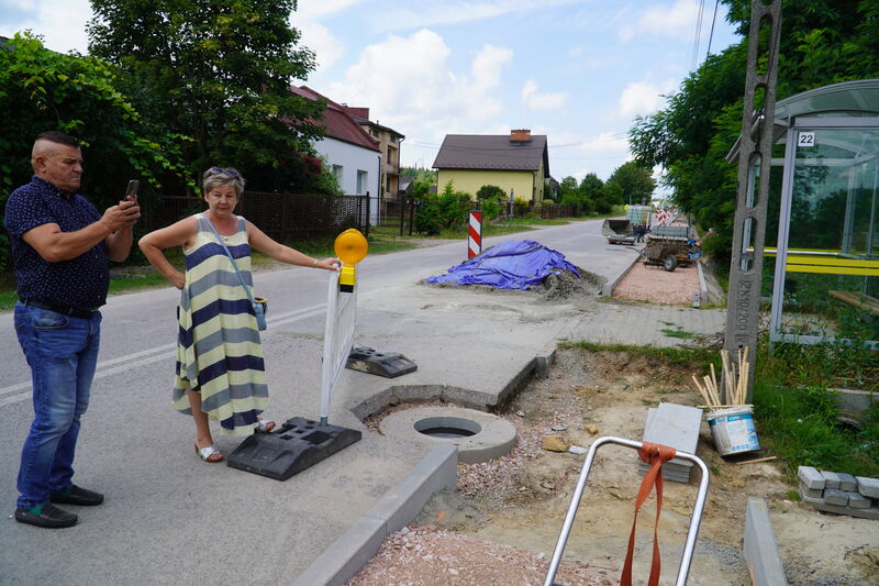
[[[488,239],[485,245],[537,240],[607,277],[619,274],[636,253],[608,245],[600,225],[576,222]],[[420,365],[422,382],[502,385],[508,371],[521,368],[559,325],[544,319],[547,309],[530,314],[516,307],[514,296],[494,296],[503,303],[485,311],[479,305],[485,301],[474,296],[460,301],[455,292],[414,286],[465,257],[461,241],[364,259],[355,343],[365,339],[385,350],[412,352],[425,363]],[[263,335],[271,394],[266,414],[315,418],[327,275],[297,267],[260,272],[254,280],[257,292],[269,299],[269,329]],[[0,584],[289,583],[425,455],[424,446],[365,433],[354,446],[285,483],[201,463],[192,449],[191,421],[168,405],[177,297],[171,287],[120,295],[103,309],[101,353],[82,418],[75,480],[104,491],[107,501],[77,510],[80,523],[59,531],[12,519],[20,450],[32,420],[30,372],[11,313],[0,314],[0,501],[7,511],[0,522]],[[427,316],[427,307],[436,311]],[[455,332],[488,342],[474,347],[460,343]],[[479,372],[426,365],[439,351],[452,356],[447,364],[478,364]],[[348,373],[340,383],[344,388],[331,422],[363,428],[349,410],[352,400],[385,383]],[[226,453],[241,442],[219,433],[214,439]]]

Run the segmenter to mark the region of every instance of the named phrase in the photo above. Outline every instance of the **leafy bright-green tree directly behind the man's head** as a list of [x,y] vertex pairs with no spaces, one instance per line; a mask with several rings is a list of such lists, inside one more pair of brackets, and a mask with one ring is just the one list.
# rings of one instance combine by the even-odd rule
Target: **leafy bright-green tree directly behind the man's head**
[[[51,130],[82,144],[82,192],[99,209],[116,203],[132,178],[147,189],[169,178],[188,180],[181,137],[145,120],[115,84],[105,62],[48,51],[26,33],[0,47],[0,214],[12,189],[33,175],[34,137]],[[149,198],[141,200],[146,206]],[[0,268],[8,251],[0,233]]]

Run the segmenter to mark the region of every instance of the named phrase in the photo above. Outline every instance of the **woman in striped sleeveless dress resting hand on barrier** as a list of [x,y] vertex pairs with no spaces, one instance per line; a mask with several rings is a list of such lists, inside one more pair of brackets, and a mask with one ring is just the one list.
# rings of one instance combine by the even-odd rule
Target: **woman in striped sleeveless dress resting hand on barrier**
[[[232,168],[212,167],[203,178],[208,210],[156,230],[140,241],[149,263],[180,289],[177,308],[177,376],[174,408],[196,422],[196,452],[204,462],[221,462],[208,420],[224,432],[271,431],[259,417],[268,402],[263,347],[251,301],[218,235],[253,289],[251,248],[291,265],[337,270],[338,258],[319,261],[271,240],[233,210],[244,178]],[[211,226],[216,231],[211,230]],[[163,251],[182,246],[186,273]],[[253,295],[253,291],[251,291]]]

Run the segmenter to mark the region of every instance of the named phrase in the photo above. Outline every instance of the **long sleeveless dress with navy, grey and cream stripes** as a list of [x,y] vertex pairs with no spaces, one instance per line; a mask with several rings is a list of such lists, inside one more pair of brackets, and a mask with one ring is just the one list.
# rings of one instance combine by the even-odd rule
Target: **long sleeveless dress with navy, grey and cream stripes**
[[[201,409],[227,433],[247,433],[268,403],[263,347],[251,301],[203,215],[186,255],[186,285],[177,308],[177,377],[174,408],[192,414],[187,390],[201,394]],[[253,294],[251,246],[238,218],[223,236]]]

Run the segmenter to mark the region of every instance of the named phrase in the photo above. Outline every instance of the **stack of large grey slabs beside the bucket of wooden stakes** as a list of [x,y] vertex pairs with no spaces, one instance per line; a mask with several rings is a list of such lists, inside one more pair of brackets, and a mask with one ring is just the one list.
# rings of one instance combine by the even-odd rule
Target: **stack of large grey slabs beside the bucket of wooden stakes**
[[[660,402],[647,410],[644,441],[668,445],[678,452],[696,453],[702,410],[672,402]],[[676,457],[663,464],[663,479],[688,484],[693,463]],[[638,458],[638,474],[644,476],[650,465]]]

